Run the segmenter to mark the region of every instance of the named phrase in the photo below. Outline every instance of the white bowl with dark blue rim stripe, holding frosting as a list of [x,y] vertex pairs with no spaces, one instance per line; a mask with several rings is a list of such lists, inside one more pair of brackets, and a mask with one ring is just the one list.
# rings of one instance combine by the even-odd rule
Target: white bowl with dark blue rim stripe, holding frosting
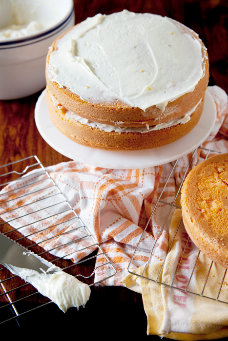
[[0,0],[0,100],[45,87],[48,47],[74,22],[73,0]]

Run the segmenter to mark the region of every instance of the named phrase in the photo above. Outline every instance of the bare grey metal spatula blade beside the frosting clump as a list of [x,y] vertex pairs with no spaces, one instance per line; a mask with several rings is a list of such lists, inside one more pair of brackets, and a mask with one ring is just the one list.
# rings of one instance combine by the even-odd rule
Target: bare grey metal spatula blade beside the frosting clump
[[1,233],[0,264],[4,265],[7,269],[17,275],[19,274],[19,269],[17,269],[17,267],[36,270],[39,273],[43,273],[52,266],[52,263],[49,263],[40,256],[35,255],[33,252],[26,250],[26,248],[18,245]]

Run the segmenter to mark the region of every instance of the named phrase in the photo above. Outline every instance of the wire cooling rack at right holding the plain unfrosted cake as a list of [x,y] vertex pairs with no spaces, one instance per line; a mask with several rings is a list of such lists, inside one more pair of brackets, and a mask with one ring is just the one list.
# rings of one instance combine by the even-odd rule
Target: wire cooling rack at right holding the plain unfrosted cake
[[[216,152],[216,151],[208,150],[208,149],[204,149],[204,148],[201,148],[201,150],[202,150],[202,152],[204,153],[205,159],[207,159],[208,156],[209,156],[210,154],[212,154],[212,153],[215,154],[215,155],[216,155],[216,154],[220,154],[220,152]],[[226,297],[228,297],[228,295],[222,295],[222,296],[223,296],[223,299],[220,299],[220,294],[221,294],[221,292],[222,292],[222,290],[223,290],[223,286],[225,286],[225,290],[226,290],[226,286],[228,286],[228,279],[226,278],[227,269],[224,268],[224,267],[222,267],[222,266],[220,266],[220,265],[216,265],[214,262],[210,261],[209,259],[207,259],[207,260],[208,260],[208,262],[207,262],[207,270],[204,271],[204,279],[203,279],[203,280],[201,279],[200,289],[199,289],[199,287],[197,287],[197,288],[194,287],[194,283],[192,283],[192,282],[194,282],[193,278],[195,278],[195,277],[194,277],[194,274],[196,274],[196,273],[194,273],[194,271],[196,271],[197,262],[200,262],[200,258],[203,257],[203,254],[201,253],[201,251],[200,251],[199,249],[196,248],[196,246],[195,246],[196,250],[195,250],[195,257],[194,257],[195,259],[194,259],[194,262],[193,262],[191,265],[187,264],[187,267],[189,268],[187,280],[186,280],[186,279],[182,280],[182,283],[185,282],[185,283],[184,283],[185,285],[183,285],[183,284],[180,285],[180,283],[178,283],[177,281],[175,281],[176,276],[178,276],[177,274],[178,274],[178,270],[179,270],[180,266],[183,267],[183,263],[184,263],[184,262],[182,263],[182,261],[185,261],[185,252],[186,252],[187,246],[189,245],[189,243],[192,243],[192,241],[191,241],[191,239],[190,239],[189,236],[188,236],[187,239],[186,239],[185,247],[183,247],[182,255],[181,255],[181,256],[179,257],[179,259],[178,259],[178,265],[177,265],[177,267],[176,267],[176,270],[175,270],[174,272],[171,272],[172,269],[171,269],[171,267],[170,267],[170,273],[169,273],[169,274],[167,275],[167,277],[166,277],[166,278],[169,278],[169,283],[166,283],[165,281],[163,282],[163,281],[161,280],[161,273],[162,273],[162,270],[163,270],[163,268],[164,268],[164,266],[165,266],[166,258],[167,258],[167,256],[168,256],[169,252],[171,252],[171,250],[172,250],[173,243],[174,243],[175,238],[177,237],[178,231],[179,231],[180,226],[181,226],[181,224],[182,224],[182,220],[180,221],[180,223],[179,223],[179,225],[178,225],[178,227],[177,227],[177,229],[176,229],[176,231],[175,231],[175,233],[174,233],[174,235],[173,235],[173,237],[172,237],[172,240],[171,240],[171,242],[170,242],[170,244],[169,244],[170,246],[169,246],[169,249],[168,249],[166,258],[164,259],[161,268],[159,268],[159,270],[157,270],[157,273],[153,272],[152,274],[150,273],[149,275],[147,275],[148,272],[145,271],[145,270],[146,270],[146,266],[150,264],[150,261],[151,261],[151,258],[152,258],[152,256],[153,256],[154,252],[155,252],[156,246],[158,245],[158,244],[157,244],[157,241],[158,241],[160,235],[162,234],[164,228],[166,227],[167,222],[171,220],[171,217],[172,217],[172,215],[173,215],[173,213],[174,213],[175,208],[181,208],[179,205],[176,205],[176,201],[178,201],[177,199],[178,199],[178,196],[180,195],[179,193],[180,193],[182,184],[183,184],[183,182],[184,182],[184,180],[185,180],[185,178],[186,178],[186,176],[187,176],[188,169],[189,169],[189,167],[191,166],[193,157],[194,157],[194,155],[195,155],[196,152],[197,152],[197,150],[195,150],[195,152],[193,152],[192,158],[191,158],[191,160],[189,161],[189,164],[187,165],[186,172],[185,172],[185,174],[184,174],[184,177],[183,177],[183,180],[182,180],[182,182],[181,182],[181,185],[180,185],[180,187],[179,187],[179,189],[178,189],[178,191],[177,191],[177,193],[176,193],[176,196],[175,196],[174,201],[173,201],[172,203],[167,203],[166,201],[162,200],[161,198],[162,198],[163,192],[164,192],[165,189],[166,189],[166,186],[167,186],[167,184],[168,184],[168,181],[169,181],[171,175],[174,173],[174,169],[175,169],[175,166],[176,166],[178,160],[175,162],[175,164],[174,164],[174,166],[173,166],[171,172],[170,172],[169,175],[168,175],[168,178],[167,178],[167,180],[166,180],[166,183],[165,183],[165,185],[164,185],[164,188],[163,188],[162,191],[161,191],[161,194],[160,194],[160,196],[159,196],[159,199],[158,199],[158,201],[156,202],[156,204],[155,204],[155,206],[154,206],[154,208],[153,208],[153,211],[152,211],[152,213],[151,213],[151,216],[150,216],[150,218],[149,218],[149,220],[148,220],[148,222],[147,222],[147,224],[146,224],[146,226],[145,226],[145,229],[144,229],[144,232],[143,232],[143,234],[142,234],[142,236],[141,236],[141,239],[140,239],[140,241],[139,241],[139,243],[138,243],[138,245],[137,245],[137,247],[136,247],[136,249],[135,249],[135,251],[134,251],[134,253],[133,253],[133,255],[132,255],[132,258],[131,258],[131,260],[130,260],[130,263],[129,263],[129,265],[128,265],[127,270],[128,270],[129,273],[131,273],[131,274],[133,274],[133,275],[136,275],[136,276],[138,276],[138,277],[147,279],[147,280],[152,281],[152,282],[157,283],[157,284],[165,285],[166,287],[170,287],[170,288],[173,288],[173,289],[175,289],[175,290],[182,291],[182,292],[184,292],[184,293],[191,293],[191,294],[194,294],[194,295],[197,295],[197,296],[201,296],[201,297],[205,297],[205,298],[208,298],[208,299],[212,299],[212,300],[214,300],[214,301],[223,302],[223,303],[228,303],[228,299],[224,300],[224,297],[226,298]],[[151,218],[152,218],[153,215],[155,214],[155,209],[157,208],[157,206],[158,206],[159,204],[167,205],[167,206],[169,207],[169,209],[168,209],[168,214],[167,214],[166,216],[164,216],[163,225],[162,225],[162,227],[161,227],[161,230],[160,230],[160,232],[159,232],[158,237],[156,238],[156,241],[155,241],[155,243],[154,243],[154,246],[153,246],[153,247],[151,246],[152,249],[151,249],[151,251],[150,251],[150,256],[148,257],[148,258],[149,258],[148,261],[145,262],[145,265],[143,265],[143,266],[144,266],[144,269],[143,269],[143,271],[142,271],[142,274],[141,274],[141,275],[140,275],[140,274],[136,274],[136,273],[134,273],[134,272],[132,272],[132,271],[130,270],[130,266],[131,266],[131,264],[132,264],[132,262],[133,262],[133,260],[134,260],[134,256],[135,256],[135,253],[136,253],[137,249],[140,248],[140,246],[141,246],[141,242],[142,242],[143,239],[144,239],[145,231],[146,231],[146,229],[147,229],[147,227],[148,227],[148,225],[149,225],[149,222],[150,222]],[[193,244],[193,243],[192,243],[192,244]],[[191,266],[191,268],[190,268],[190,266]],[[219,268],[219,270],[218,270],[219,278],[217,278],[217,279],[215,279],[215,280],[213,281],[214,290],[213,290],[213,297],[212,297],[212,296],[211,296],[211,295],[212,295],[211,292],[207,290],[207,285],[209,285],[209,286],[211,285],[210,272],[211,272],[211,269],[212,269],[213,266],[215,266],[217,270],[218,270],[218,268]],[[150,276],[150,277],[148,277],[148,276]],[[171,280],[170,280],[170,278],[171,278]],[[225,280],[226,280],[226,281],[225,281]],[[179,284],[179,285],[178,285],[178,284]],[[224,285],[224,284],[225,284],[225,285]],[[178,286],[179,286],[179,287],[178,287]],[[180,288],[180,286],[182,286],[182,288]],[[184,288],[183,288],[183,287],[184,287]],[[209,295],[207,295],[208,292],[209,292]]]

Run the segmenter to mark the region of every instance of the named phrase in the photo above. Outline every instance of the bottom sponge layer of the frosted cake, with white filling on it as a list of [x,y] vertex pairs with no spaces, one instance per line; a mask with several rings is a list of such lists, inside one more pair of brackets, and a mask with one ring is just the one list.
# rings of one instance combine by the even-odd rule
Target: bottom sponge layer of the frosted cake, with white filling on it
[[172,143],[196,126],[204,107],[203,98],[187,114],[167,123],[148,127],[118,127],[89,121],[68,111],[48,87],[45,99],[49,116],[61,133],[81,145],[113,151],[151,149]]

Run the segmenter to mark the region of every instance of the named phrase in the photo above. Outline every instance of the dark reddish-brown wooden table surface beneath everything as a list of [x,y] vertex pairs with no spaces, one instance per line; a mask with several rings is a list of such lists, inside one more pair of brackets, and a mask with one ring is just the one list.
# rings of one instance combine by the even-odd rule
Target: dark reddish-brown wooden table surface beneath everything
[[[209,85],[218,85],[228,93],[227,0],[75,0],[74,3],[76,23],[97,13],[111,14],[123,9],[182,22],[198,33],[207,47]],[[0,101],[0,165],[34,154],[45,167],[69,161],[52,149],[36,128],[34,108],[40,94]],[[24,307],[26,304],[33,307],[33,303],[24,303]],[[146,336],[141,295],[123,287],[92,287],[85,309],[79,312],[69,309],[64,315],[51,303],[25,314],[20,325],[19,328],[15,322],[4,323],[1,330],[10,330],[12,336],[27,335],[33,340],[160,340]]]

